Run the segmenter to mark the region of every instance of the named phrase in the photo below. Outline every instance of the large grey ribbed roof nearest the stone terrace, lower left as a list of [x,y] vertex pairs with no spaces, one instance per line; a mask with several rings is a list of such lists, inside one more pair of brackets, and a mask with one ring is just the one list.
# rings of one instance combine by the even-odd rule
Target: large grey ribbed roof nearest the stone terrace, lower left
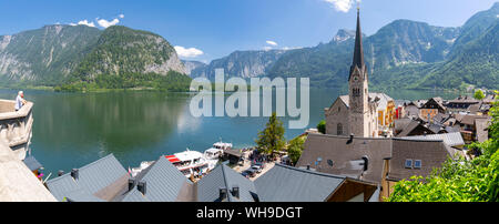
[[47,187],[60,202],[110,202],[126,187],[130,174],[110,154],[49,180]]

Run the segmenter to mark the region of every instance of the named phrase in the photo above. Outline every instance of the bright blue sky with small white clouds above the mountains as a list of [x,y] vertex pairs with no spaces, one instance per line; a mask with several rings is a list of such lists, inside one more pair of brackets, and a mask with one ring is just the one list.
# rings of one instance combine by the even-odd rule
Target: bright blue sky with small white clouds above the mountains
[[[355,29],[356,0],[0,0],[0,35],[45,24],[120,24],[165,38],[185,60],[236,50],[294,49]],[[397,19],[460,27],[498,0],[361,0],[363,32]]]

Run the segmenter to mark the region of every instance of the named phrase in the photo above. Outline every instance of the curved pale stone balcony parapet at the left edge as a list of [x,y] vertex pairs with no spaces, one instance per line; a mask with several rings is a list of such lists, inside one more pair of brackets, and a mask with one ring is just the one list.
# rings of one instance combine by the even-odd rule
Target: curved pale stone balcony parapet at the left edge
[[28,102],[19,111],[14,110],[14,103],[0,100],[0,142],[12,149],[20,160],[24,160],[31,141],[33,103]]

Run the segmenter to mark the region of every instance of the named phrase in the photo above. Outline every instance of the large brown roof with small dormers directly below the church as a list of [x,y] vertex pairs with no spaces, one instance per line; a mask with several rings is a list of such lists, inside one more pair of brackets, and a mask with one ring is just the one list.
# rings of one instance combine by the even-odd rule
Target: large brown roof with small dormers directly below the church
[[[444,140],[437,139],[377,139],[310,134],[297,162],[298,167],[380,184],[381,195],[389,194],[395,182],[411,175],[427,176],[430,171],[456,153]],[[399,172],[404,160],[417,160],[424,169]],[[388,163],[387,163],[388,161]],[[390,166],[391,165],[391,166]],[[387,181],[387,175],[390,179]]]

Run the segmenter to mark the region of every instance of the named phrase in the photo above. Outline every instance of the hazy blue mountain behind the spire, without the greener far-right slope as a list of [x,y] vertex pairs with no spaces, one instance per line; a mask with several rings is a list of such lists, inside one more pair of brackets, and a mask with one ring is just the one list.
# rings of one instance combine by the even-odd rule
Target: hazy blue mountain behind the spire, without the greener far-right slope
[[[397,20],[370,37],[364,37],[370,73],[378,68],[442,60],[459,29],[432,27],[422,22]],[[329,43],[295,50],[283,55],[268,75],[308,77],[316,86],[344,86],[352,64],[355,32],[339,30]]]

